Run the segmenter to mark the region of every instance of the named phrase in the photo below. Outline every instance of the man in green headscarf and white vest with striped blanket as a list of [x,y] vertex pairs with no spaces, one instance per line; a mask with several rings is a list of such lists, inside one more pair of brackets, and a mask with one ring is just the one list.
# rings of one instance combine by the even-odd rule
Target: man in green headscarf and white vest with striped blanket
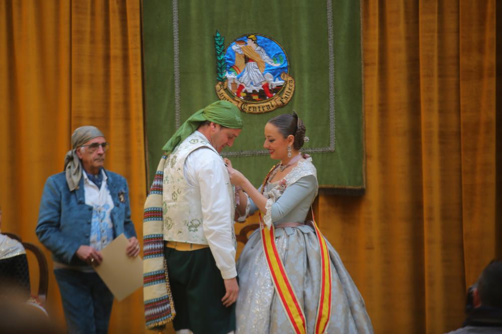
[[[159,306],[169,306],[172,291],[176,331],[227,334],[235,329],[234,194],[219,153],[232,146],[242,126],[239,109],[217,101],[193,114],[163,148],[167,157],[145,203],[143,227],[145,251],[152,254],[144,264],[149,328],[172,318],[174,310]],[[162,256],[171,291],[157,278],[164,269]]]

